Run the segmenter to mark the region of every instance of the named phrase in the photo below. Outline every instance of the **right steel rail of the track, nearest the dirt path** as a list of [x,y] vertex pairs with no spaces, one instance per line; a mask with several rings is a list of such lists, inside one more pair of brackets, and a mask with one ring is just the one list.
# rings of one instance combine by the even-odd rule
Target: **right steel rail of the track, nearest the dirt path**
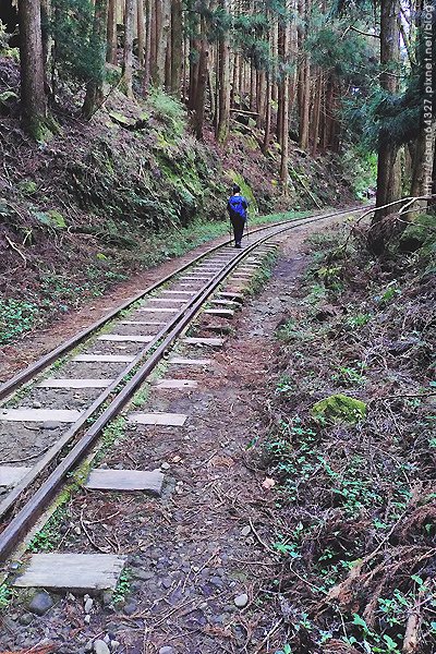
[[[47,505],[55,497],[59,487],[64,480],[65,475],[72,471],[72,469],[86,456],[90,447],[95,444],[98,436],[101,434],[102,429],[107,426],[107,424],[118,414],[132,396],[136,392],[137,388],[145,382],[145,379],[149,376],[150,372],[156,367],[156,365],[162,359],[165,352],[169,347],[173,344],[180,334],[192,323],[196,314],[202,310],[204,302],[214,293],[214,291],[219,287],[223,279],[243,261],[253,250],[262,245],[265,241],[274,238],[275,235],[281,234],[282,232],[289,231],[291,229],[295,229],[298,227],[310,225],[312,222],[317,222],[319,220],[325,220],[326,218],[342,215],[344,213],[355,213],[358,209],[344,209],[341,211],[337,211],[335,214],[327,215],[318,215],[312,218],[303,218],[300,220],[287,221],[286,223],[291,222],[291,225],[287,225],[283,227],[283,223],[279,223],[276,226],[267,226],[266,229],[270,229],[272,233],[268,233],[263,238],[259,238],[253,244],[249,245],[243,251],[239,252],[233,256],[233,258],[228,262],[218,274],[208,280],[202,289],[199,289],[196,295],[189,302],[187,306],[184,305],[178,314],[173,317],[170,323],[168,323],[165,328],[162,328],[158,335],[153,339],[150,343],[147,344],[135,358],[135,360],[130,364],[129,372],[132,372],[141,362],[142,359],[146,355],[148,351],[156,348],[156,350],[152,353],[149,359],[146,361],[144,365],[140,367],[140,370],[134,374],[132,379],[130,379],[122,390],[117,395],[117,397],[110,402],[110,404],[105,409],[99,417],[95,421],[95,423],[85,432],[85,434],[81,437],[81,439],[72,447],[66,457],[60,462],[60,464],[49,474],[48,479],[43,482],[41,486],[35,492],[33,497],[19,510],[19,512],[12,518],[11,522],[4,528],[4,530],[0,534],[0,561],[5,560],[7,557],[11,554],[11,552],[16,546],[16,543],[26,533],[32,524],[38,519],[38,517],[43,513],[43,511],[47,508]],[[284,225],[286,225],[284,223]],[[262,231],[262,230],[256,230]],[[216,249],[222,247],[219,245],[214,247]],[[203,255],[197,258],[203,258]],[[184,266],[185,268],[187,266]],[[173,277],[171,275],[170,277]],[[159,284],[160,286],[160,284]],[[141,295],[142,296],[142,295]],[[136,300],[137,301],[137,300]],[[119,310],[120,311],[120,310]],[[164,338],[162,342],[161,339]],[[126,370],[122,372],[119,378],[117,378],[113,384],[106,390],[105,401],[109,398],[111,392],[117,389],[117,386],[120,385],[121,382],[124,380],[125,375],[128,374]],[[101,396],[100,396],[101,397]],[[100,399],[100,398],[98,398]],[[96,400],[97,401],[97,400]],[[102,402],[98,404],[101,405]],[[95,403],[94,403],[95,404]],[[81,416],[81,420],[77,421],[80,423],[80,427],[84,425],[86,420],[88,420],[89,414],[95,412],[96,408],[88,408],[88,410]],[[94,407],[94,408],[93,408]],[[86,417],[85,417],[86,416]],[[53,446],[46,453],[44,461],[44,470],[48,468],[48,465],[56,459],[56,457],[61,452],[61,450],[71,443],[72,438],[77,435],[80,428],[77,428],[77,423],[70,428],[66,434],[62,437],[58,444]],[[68,438],[66,438],[68,437]],[[37,464],[38,467],[38,464]],[[32,471],[31,471],[32,473]],[[31,474],[28,473],[28,474]],[[41,470],[32,475],[32,480],[28,475],[26,475],[27,484],[25,487],[22,485],[20,493],[12,492],[5,500],[3,500],[2,505],[0,505],[0,514],[4,514],[5,510],[12,508],[13,504],[17,500],[19,496],[24,493],[25,489],[28,489],[31,484],[36,481],[37,476],[41,474]],[[15,491],[15,489],[14,489]],[[11,499],[10,499],[11,498]],[[13,500],[12,500],[13,498]],[[7,507],[7,504],[8,507]]]

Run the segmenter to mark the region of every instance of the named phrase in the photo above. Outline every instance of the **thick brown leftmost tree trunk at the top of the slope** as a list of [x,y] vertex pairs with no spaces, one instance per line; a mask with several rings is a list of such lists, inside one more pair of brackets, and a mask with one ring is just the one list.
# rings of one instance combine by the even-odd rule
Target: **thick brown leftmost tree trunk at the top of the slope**
[[45,136],[47,119],[40,0],[20,0],[19,23],[23,123],[26,132],[39,141]]

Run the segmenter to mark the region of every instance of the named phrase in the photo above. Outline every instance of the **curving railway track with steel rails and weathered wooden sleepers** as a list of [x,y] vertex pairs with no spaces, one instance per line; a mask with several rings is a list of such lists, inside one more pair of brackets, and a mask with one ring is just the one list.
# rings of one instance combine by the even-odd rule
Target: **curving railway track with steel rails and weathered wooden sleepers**
[[[215,246],[110,312],[0,387],[0,561],[8,559],[53,501],[74,470],[96,447],[105,428],[149,380],[160,362],[192,370],[207,359],[178,356],[177,343],[191,351],[223,343],[220,330],[240,306],[240,287],[262,265],[275,237],[361,208],[322,214],[263,227],[242,251]],[[221,322],[218,336],[194,338],[198,316]],[[204,351],[204,350],[203,350]],[[186,388],[190,379],[164,378],[161,388]],[[186,416],[157,412],[128,420],[142,425],[183,424]],[[37,445],[35,445],[37,444]],[[24,465],[23,465],[24,463]],[[101,472],[101,471],[100,471]],[[148,474],[149,491],[164,475]],[[144,477],[145,479],[145,477]],[[1,488],[0,488],[1,489]],[[146,489],[146,487],[144,487]]]

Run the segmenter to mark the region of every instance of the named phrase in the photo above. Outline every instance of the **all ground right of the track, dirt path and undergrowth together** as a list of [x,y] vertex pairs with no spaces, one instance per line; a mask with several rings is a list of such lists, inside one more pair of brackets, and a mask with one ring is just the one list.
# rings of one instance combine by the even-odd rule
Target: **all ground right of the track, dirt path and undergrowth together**
[[198,389],[145,400],[189,426],[118,427],[105,463],[164,465],[161,499],[78,491],[46,531],[49,549],[129,554],[116,597],[86,623],[81,597],[36,617],[19,595],[0,647],[434,654],[432,272],[421,252],[338,253],[346,233],[294,230]]

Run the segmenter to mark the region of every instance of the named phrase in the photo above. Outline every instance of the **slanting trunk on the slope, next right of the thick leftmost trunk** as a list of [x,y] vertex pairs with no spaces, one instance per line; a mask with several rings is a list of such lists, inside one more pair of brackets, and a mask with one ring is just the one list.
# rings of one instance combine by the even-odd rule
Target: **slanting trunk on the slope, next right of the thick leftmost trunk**
[[85,101],[82,112],[89,120],[98,105],[104,100],[102,85],[105,82],[107,51],[108,0],[96,0],[94,8],[93,50],[96,58],[96,74],[86,86]]

